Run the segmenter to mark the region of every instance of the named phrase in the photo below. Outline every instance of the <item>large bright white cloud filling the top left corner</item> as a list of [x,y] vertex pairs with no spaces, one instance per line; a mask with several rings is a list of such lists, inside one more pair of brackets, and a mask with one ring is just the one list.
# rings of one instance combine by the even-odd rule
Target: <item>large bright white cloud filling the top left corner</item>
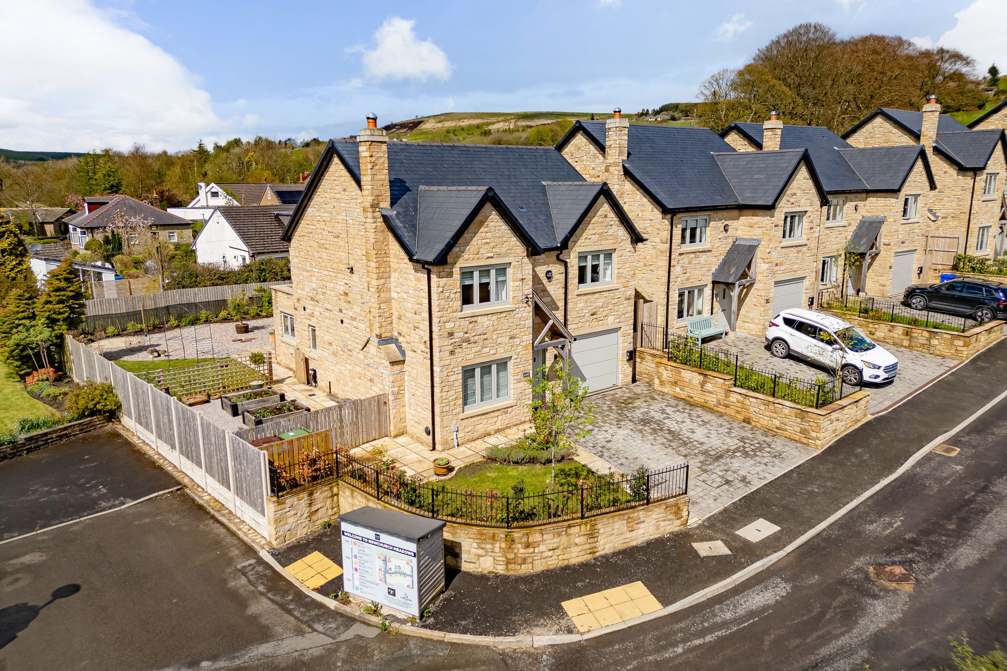
[[221,130],[198,77],[116,17],[88,0],[5,3],[4,48],[20,56],[0,68],[0,147],[178,149]]

